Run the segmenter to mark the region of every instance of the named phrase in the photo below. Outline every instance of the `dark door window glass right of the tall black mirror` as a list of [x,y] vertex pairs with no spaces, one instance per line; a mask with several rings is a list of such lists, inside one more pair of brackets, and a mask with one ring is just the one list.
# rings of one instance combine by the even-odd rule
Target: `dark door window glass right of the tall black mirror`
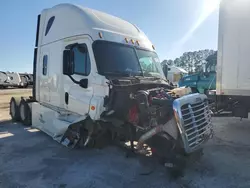
[[74,54],[74,73],[88,76],[90,74],[90,59],[88,48],[85,44],[76,46],[72,49]]

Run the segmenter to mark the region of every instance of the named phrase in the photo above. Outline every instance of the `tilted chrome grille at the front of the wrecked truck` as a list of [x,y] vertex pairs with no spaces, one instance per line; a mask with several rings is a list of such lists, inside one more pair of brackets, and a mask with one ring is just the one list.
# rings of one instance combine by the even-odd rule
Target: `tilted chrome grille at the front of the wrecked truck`
[[191,94],[177,99],[174,109],[179,116],[181,131],[186,152],[192,152],[212,133],[211,113],[207,97],[203,94]]

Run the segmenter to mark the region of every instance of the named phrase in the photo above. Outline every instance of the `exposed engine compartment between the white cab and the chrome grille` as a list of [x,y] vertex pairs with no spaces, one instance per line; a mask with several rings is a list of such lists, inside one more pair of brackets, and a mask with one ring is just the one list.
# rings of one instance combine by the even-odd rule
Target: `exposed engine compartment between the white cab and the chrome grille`
[[165,124],[173,117],[173,96],[168,85],[135,84],[110,86],[105,116],[119,118],[139,129]]

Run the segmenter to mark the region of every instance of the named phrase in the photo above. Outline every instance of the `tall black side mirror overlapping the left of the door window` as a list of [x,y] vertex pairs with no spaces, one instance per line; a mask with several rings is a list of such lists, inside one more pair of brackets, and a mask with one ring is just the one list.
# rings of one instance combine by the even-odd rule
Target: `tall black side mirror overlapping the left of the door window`
[[63,51],[63,74],[73,75],[74,74],[74,54],[70,50]]

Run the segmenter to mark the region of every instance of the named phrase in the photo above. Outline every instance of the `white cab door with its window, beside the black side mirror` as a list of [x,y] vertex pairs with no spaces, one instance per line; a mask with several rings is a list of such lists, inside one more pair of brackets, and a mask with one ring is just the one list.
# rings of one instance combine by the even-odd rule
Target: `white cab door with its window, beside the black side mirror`
[[69,111],[80,115],[89,113],[90,101],[93,96],[91,62],[89,57],[88,41],[84,41],[79,46],[72,47],[71,59],[74,61],[74,74],[72,79],[79,82],[81,79],[87,79],[88,85],[86,88],[74,83],[69,76],[65,77],[64,86],[64,106]]

